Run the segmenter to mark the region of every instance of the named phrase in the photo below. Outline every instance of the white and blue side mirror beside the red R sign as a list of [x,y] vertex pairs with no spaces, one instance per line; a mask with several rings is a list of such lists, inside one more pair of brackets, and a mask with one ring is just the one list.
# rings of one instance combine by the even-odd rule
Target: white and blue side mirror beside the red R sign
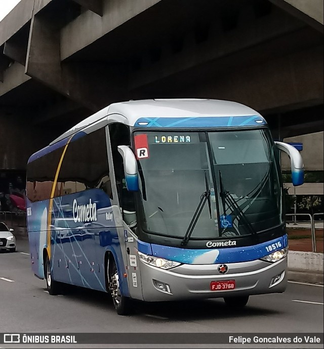
[[118,151],[123,157],[126,186],[129,191],[138,190],[138,172],[135,155],[127,145],[118,145]]

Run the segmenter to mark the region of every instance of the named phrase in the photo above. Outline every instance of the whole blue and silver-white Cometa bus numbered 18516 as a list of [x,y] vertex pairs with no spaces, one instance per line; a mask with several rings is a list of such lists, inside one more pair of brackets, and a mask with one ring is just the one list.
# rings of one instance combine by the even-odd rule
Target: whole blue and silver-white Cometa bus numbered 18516
[[255,110],[210,99],[114,103],[33,154],[27,224],[33,273],[132,299],[247,304],[287,285],[279,150],[298,150]]

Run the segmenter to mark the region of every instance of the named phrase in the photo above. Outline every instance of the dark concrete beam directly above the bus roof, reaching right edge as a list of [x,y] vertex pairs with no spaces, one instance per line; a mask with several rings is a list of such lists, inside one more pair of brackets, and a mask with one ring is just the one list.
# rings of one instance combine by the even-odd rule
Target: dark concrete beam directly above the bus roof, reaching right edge
[[[225,71],[201,84],[188,85],[181,94],[234,100],[262,113],[301,103],[304,106],[322,104],[322,48],[319,45],[254,66]],[[175,93],[174,97],[177,97]]]

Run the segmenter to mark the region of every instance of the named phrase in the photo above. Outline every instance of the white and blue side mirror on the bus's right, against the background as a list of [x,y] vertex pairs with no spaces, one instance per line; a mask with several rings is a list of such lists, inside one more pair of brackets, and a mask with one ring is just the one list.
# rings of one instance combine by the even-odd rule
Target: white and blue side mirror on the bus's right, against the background
[[278,149],[280,149],[281,151],[285,151],[290,157],[293,185],[302,185],[304,183],[304,164],[300,152],[288,143],[274,143]]

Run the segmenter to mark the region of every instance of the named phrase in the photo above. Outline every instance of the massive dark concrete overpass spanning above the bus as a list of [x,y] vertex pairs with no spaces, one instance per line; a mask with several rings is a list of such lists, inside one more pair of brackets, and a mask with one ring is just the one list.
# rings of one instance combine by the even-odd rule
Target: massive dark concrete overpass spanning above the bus
[[323,130],[322,0],[22,0],[0,22],[0,169],[111,102],[209,97]]

